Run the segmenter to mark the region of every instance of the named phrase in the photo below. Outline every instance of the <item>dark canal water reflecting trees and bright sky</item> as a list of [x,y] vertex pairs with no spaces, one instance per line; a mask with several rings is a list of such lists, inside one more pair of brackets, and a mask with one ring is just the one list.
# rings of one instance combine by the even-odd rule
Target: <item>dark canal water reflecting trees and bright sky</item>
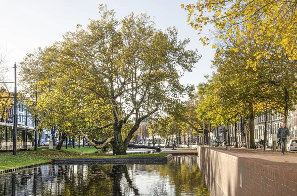
[[167,164],[44,165],[0,175],[0,196],[210,196],[197,157]]

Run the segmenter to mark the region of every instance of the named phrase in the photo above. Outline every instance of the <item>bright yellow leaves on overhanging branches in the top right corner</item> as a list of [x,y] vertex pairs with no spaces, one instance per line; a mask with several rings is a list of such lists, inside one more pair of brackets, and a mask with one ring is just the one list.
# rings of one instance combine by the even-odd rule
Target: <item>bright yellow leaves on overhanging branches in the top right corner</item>
[[[211,38],[219,39],[215,46],[212,46],[220,48],[216,55],[221,55],[229,49],[249,54],[249,49],[229,43],[230,39],[236,38],[237,44],[250,43],[249,48],[252,45],[262,46],[262,49],[257,51],[257,58],[250,58],[250,61],[269,59],[271,55],[277,58],[286,55],[289,60],[297,59],[297,13],[294,3],[263,0],[197,0],[194,4],[181,4],[181,8],[188,12],[187,22],[195,30],[200,32],[206,25],[211,26],[207,39],[201,37],[200,40],[203,45],[207,45]],[[206,12],[208,14],[205,14]],[[222,42],[227,42],[228,46],[222,45]],[[283,55],[271,54],[280,48]]]

